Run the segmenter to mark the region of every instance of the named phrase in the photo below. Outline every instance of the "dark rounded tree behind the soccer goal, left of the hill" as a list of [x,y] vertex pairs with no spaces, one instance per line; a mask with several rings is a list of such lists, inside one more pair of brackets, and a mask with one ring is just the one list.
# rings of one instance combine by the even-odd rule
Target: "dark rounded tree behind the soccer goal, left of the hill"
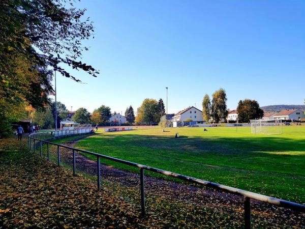
[[256,100],[240,100],[237,106],[238,122],[248,123],[251,119],[261,119],[264,111],[259,107]]

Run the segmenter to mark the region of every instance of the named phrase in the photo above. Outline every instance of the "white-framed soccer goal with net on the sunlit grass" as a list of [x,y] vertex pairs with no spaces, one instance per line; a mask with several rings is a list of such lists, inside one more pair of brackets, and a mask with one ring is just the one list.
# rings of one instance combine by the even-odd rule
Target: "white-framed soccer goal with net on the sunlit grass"
[[282,120],[250,120],[251,133],[282,134]]

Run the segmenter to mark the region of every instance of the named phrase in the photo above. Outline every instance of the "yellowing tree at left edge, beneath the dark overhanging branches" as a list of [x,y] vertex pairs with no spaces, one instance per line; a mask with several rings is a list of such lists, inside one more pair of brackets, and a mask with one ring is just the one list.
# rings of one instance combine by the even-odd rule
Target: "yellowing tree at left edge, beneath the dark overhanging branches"
[[[32,71],[28,71],[30,68]],[[52,91],[51,73],[46,67],[33,68],[26,60],[15,59],[11,71],[13,73],[0,75],[0,137],[11,132],[10,123],[24,118],[27,106],[44,109]]]

